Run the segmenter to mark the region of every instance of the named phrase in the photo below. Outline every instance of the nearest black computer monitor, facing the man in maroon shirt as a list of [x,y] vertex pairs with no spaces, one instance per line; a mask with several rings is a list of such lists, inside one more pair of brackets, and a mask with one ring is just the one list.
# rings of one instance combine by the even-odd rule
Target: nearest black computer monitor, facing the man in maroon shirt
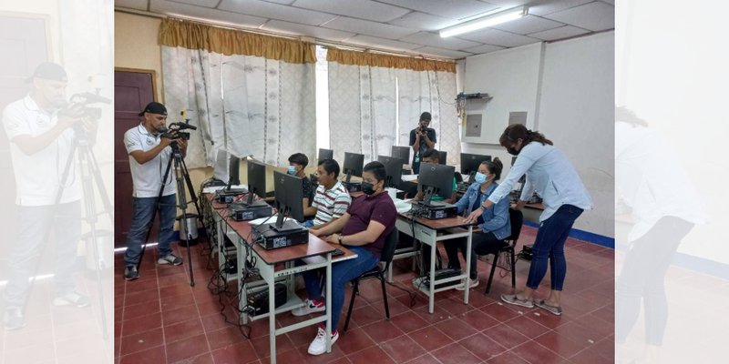
[[284,223],[283,216],[289,215],[297,221],[303,221],[303,180],[279,171],[273,172],[273,188],[276,197],[278,217],[273,229],[283,232],[300,230],[302,227],[293,221]]

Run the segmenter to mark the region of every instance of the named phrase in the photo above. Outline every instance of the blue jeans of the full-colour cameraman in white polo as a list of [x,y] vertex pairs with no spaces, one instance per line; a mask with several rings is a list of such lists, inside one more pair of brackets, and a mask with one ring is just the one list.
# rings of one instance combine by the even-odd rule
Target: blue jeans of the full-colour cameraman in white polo
[[[176,194],[163,196],[159,199],[159,235],[157,246],[159,257],[167,257],[172,254],[169,243],[172,240],[172,233],[175,225],[175,213],[177,212]],[[136,266],[139,263],[139,254],[142,251],[142,244],[147,238],[147,230],[154,219],[154,209],[157,205],[157,197],[132,197],[132,211],[134,217],[129,227],[127,237],[127,252],[124,253],[126,266]]]

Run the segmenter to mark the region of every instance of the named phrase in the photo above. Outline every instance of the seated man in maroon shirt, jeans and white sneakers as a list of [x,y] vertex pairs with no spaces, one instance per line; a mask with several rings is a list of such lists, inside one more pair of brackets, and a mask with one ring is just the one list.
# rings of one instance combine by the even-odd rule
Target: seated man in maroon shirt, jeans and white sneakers
[[[336,262],[332,265],[332,343],[339,339],[337,324],[344,306],[344,285],[362,273],[375,268],[380,261],[380,252],[385,246],[385,237],[395,228],[397,210],[392,198],[385,193],[385,166],[370,162],[363,168],[362,192],[333,223],[309,231],[317,237],[326,237],[332,244],[341,244],[357,254],[357,258]],[[306,271],[303,279],[309,299],[303,308],[293,309],[294,316],[321,312],[324,308],[320,276],[316,271]],[[320,355],[326,351],[326,330],[319,328],[316,338],[309,345],[309,354]]]

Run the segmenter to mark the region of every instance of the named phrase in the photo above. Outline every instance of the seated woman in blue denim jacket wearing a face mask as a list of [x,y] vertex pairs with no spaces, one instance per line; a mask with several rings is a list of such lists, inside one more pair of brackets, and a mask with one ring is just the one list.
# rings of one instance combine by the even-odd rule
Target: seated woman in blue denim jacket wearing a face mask
[[[504,165],[498,158],[494,158],[493,162],[484,161],[478,166],[474,183],[468,187],[466,194],[456,203],[458,213],[477,209],[486,202],[488,196],[496,190],[501,179],[501,169]],[[483,213],[477,217],[477,229],[471,235],[471,274],[470,288],[478,286],[478,273],[476,271],[476,255],[485,256],[493,254],[499,248],[506,245],[505,238],[511,234],[511,225],[508,221],[508,198],[502,198],[498,204],[483,210]],[[466,258],[467,239],[462,238],[458,241],[447,242],[444,244],[448,255],[448,267],[460,269],[460,261],[458,260],[458,248],[460,248],[463,258]],[[461,283],[456,287],[463,290],[466,287]]]

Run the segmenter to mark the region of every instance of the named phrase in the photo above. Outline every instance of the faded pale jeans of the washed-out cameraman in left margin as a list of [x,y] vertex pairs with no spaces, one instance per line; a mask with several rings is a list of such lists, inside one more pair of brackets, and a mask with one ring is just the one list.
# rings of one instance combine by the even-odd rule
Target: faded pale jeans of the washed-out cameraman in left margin
[[54,278],[56,295],[74,289],[76,249],[81,239],[81,201],[56,206],[17,207],[15,241],[11,244],[7,264],[7,287],[3,292],[6,307],[23,307],[31,288],[28,280],[36,274],[41,248],[53,228],[56,243]]

